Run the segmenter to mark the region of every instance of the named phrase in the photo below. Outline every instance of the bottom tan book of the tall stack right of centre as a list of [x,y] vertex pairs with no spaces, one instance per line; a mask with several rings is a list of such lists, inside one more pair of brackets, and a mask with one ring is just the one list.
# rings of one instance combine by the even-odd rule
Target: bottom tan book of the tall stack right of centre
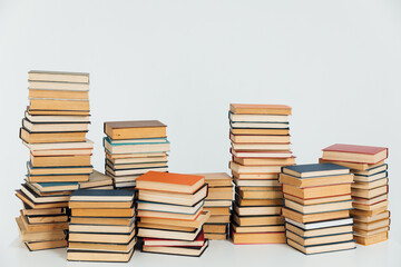
[[239,244],[285,244],[285,233],[232,233],[234,245]]

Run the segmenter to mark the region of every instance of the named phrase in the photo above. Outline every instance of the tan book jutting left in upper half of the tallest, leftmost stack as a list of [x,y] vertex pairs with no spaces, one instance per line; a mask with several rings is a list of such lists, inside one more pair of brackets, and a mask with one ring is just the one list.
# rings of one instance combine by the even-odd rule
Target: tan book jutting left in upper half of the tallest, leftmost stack
[[29,132],[25,128],[20,129],[20,138],[28,144],[85,141],[86,134],[87,134],[86,131]]

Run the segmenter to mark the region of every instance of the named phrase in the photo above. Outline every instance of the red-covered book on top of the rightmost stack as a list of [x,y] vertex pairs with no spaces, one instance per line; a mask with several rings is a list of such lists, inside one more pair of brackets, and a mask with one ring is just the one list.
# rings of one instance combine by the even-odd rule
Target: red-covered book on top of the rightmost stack
[[388,158],[389,150],[384,147],[369,147],[335,144],[323,149],[324,160],[336,160],[356,164],[376,164]]

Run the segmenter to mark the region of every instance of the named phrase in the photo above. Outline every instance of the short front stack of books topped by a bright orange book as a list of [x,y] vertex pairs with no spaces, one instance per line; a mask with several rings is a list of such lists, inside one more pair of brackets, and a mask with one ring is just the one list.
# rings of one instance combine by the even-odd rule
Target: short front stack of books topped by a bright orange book
[[207,185],[203,176],[148,171],[137,178],[138,236],[143,251],[200,256]]

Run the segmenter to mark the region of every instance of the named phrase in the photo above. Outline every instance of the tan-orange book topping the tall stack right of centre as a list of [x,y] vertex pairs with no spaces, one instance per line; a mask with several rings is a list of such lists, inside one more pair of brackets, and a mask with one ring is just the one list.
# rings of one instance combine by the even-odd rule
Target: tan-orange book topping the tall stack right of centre
[[247,115],[291,115],[291,107],[285,105],[231,103],[229,111]]

